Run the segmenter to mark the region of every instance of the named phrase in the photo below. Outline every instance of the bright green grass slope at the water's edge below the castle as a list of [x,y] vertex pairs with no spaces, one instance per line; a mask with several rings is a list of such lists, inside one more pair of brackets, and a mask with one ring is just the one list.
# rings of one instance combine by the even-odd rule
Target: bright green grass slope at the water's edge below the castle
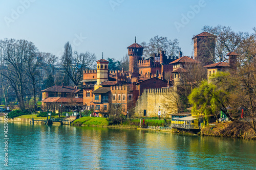
[[108,126],[109,122],[103,117],[82,117],[76,119],[72,125],[85,126]]

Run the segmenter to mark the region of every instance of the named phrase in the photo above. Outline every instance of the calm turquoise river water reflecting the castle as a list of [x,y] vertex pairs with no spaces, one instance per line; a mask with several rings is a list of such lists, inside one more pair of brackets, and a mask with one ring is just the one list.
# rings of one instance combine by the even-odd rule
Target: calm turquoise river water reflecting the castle
[[256,141],[72,126],[8,125],[2,169],[256,169]]

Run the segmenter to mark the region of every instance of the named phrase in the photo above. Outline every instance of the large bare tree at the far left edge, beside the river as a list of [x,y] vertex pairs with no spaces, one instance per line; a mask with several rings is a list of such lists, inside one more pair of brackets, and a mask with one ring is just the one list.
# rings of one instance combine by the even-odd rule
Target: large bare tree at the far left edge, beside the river
[[0,41],[1,55],[5,61],[7,79],[13,88],[19,107],[25,110],[24,97],[26,95],[26,86],[28,79],[26,71],[28,69],[27,60],[31,56],[35,56],[37,48],[32,42],[27,40],[5,39]]

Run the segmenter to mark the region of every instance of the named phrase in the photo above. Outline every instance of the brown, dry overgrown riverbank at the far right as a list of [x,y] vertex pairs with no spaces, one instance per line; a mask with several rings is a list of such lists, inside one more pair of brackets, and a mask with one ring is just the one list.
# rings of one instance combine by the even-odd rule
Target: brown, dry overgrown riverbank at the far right
[[220,136],[244,139],[256,139],[253,130],[241,121],[219,123],[216,126],[205,127],[201,131],[201,135]]

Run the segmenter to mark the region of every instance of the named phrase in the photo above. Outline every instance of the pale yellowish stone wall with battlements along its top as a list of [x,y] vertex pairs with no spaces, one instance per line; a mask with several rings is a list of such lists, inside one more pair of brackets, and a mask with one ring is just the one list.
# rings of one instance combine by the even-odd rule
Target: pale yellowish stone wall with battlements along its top
[[170,117],[170,114],[175,112],[164,106],[164,104],[172,104],[168,97],[170,95],[173,95],[173,91],[170,88],[144,89],[136,102],[134,116],[157,117],[160,110],[161,117]]

